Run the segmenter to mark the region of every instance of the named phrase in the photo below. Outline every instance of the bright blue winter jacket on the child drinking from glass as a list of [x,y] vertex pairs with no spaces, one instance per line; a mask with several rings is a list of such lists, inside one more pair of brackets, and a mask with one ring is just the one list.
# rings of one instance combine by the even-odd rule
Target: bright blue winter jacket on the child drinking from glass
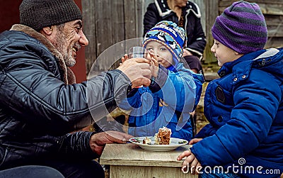
[[190,112],[200,101],[203,76],[186,69],[181,62],[176,72],[160,67],[163,72],[159,72],[156,82],[165,83],[159,83],[158,89],[152,86],[134,89],[119,104],[121,109],[131,111],[128,132],[134,136],[154,136],[166,126],[172,130],[171,137],[190,140]]

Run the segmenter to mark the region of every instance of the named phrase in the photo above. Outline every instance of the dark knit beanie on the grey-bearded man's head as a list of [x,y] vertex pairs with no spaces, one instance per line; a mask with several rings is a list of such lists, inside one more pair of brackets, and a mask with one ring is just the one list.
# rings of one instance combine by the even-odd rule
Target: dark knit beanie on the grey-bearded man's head
[[81,19],[74,0],[23,0],[20,6],[20,23],[35,30]]

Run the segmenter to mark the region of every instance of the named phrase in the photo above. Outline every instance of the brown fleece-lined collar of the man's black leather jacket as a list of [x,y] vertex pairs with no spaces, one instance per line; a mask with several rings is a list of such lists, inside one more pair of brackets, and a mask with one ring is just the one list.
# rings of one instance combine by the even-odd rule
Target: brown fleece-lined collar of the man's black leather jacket
[[76,83],[76,77],[74,75],[74,72],[71,71],[69,67],[67,67],[62,54],[54,47],[54,45],[52,45],[52,43],[50,43],[49,40],[47,40],[47,38],[45,38],[44,35],[42,35],[41,33],[38,33],[36,30],[33,30],[33,28],[30,28],[28,26],[24,26],[21,24],[13,25],[10,30],[21,31],[39,40],[40,43],[45,45],[48,48],[48,50],[50,50],[50,52],[52,52],[52,54],[55,57],[57,57],[59,61],[59,67],[63,71],[64,83],[65,84],[75,84]]

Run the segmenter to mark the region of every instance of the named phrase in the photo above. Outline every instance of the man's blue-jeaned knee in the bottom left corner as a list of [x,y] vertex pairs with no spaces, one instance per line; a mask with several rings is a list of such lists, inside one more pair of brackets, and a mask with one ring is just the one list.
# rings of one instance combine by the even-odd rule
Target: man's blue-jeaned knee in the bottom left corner
[[64,178],[64,176],[51,167],[46,166],[21,166],[0,171],[0,178]]

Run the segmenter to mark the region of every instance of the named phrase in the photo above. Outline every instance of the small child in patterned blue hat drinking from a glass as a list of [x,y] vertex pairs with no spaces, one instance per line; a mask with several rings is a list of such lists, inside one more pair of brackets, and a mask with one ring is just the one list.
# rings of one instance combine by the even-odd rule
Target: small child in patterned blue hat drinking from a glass
[[154,80],[149,87],[133,89],[127,102],[119,105],[131,111],[130,135],[154,136],[166,126],[173,138],[192,138],[190,112],[200,100],[203,77],[180,62],[186,38],[185,30],[171,21],[161,21],[146,33],[143,47],[145,58],[152,62]]

